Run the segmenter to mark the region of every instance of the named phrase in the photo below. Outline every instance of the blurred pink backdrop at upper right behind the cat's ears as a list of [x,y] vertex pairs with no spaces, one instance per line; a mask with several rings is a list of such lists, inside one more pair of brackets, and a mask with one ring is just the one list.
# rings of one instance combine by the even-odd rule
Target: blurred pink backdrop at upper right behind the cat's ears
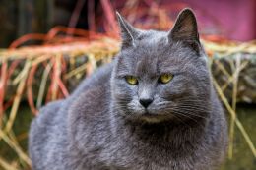
[[[117,7],[126,0],[116,1]],[[146,0],[151,4],[153,0]],[[228,39],[248,41],[256,39],[255,0],[157,0],[165,6],[192,8],[197,15],[203,34],[222,35]]]

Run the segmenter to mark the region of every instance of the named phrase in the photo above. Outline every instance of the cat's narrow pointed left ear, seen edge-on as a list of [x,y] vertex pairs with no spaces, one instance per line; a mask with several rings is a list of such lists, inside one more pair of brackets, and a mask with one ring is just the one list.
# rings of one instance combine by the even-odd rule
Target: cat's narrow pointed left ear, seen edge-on
[[135,39],[139,30],[130,25],[118,12],[116,12],[117,21],[121,30],[122,48],[135,46]]

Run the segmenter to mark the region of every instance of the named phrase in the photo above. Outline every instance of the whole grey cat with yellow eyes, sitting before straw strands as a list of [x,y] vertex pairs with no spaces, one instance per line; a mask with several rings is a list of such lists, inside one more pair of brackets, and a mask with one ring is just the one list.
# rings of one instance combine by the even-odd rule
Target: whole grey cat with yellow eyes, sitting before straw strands
[[169,32],[133,28],[117,18],[123,40],[114,61],[32,121],[32,168],[219,167],[226,122],[193,12],[183,10]]

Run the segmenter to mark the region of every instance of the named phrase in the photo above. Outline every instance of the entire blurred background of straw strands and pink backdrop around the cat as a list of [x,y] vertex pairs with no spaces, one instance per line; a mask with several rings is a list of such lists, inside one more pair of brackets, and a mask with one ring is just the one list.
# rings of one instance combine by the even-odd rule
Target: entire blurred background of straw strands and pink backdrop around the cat
[[0,170],[30,169],[28,131],[47,102],[67,97],[119,50],[115,11],[137,28],[169,30],[196,13],[226,110],[222,170],[256,169],[255,0],[1,0]]

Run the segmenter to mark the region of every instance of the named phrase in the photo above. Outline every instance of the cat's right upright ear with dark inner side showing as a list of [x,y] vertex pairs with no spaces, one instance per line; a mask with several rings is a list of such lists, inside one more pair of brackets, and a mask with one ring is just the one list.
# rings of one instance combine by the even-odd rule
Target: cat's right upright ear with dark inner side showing
[[196,17],[191,9],[182,10],[169,33],[170,40],[189,40],[199,42]]

